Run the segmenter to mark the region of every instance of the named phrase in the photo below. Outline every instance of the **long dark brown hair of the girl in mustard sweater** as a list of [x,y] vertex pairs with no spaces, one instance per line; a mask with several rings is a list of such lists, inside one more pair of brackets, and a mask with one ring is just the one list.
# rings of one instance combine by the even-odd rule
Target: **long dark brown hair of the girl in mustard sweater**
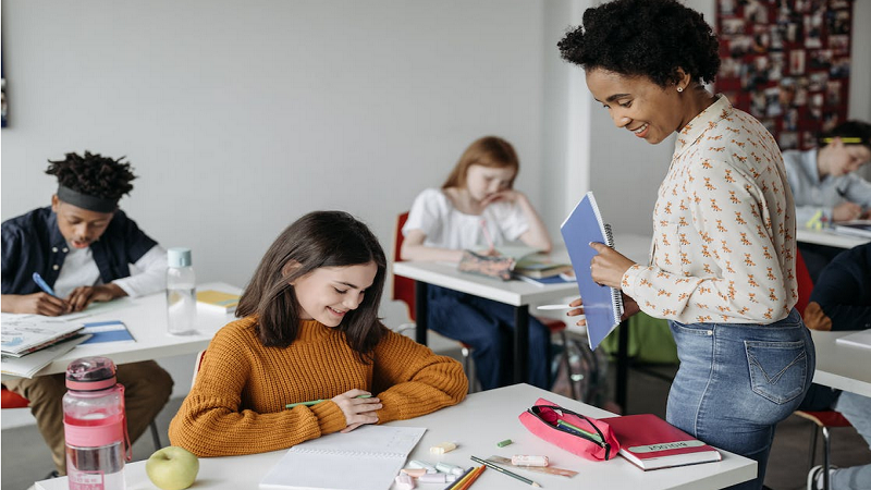
[[[285,265],[298,264],[287,268]],[[348,345],[366,360],[385,333],[378,320],[378,305],[387,274],[384,250],[375,234],[344,211],[310,212],[287,226],[269,247],[250,283],[242,294],[236,317],[257,316],[257,333],[266,346],[286,347],[299,331],[300,307],[291,282],[321,267],[347,267],[375,262],[372,285],[363,303],[348,311],[336,327]]]

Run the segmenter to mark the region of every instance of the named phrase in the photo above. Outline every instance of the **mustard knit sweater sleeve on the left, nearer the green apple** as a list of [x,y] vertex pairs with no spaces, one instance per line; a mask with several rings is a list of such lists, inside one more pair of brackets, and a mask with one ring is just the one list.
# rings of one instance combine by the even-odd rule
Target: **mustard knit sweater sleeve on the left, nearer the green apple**
[[252,339],[238,320],[221,329],[209,344],[194,387],[170,422],[170,442],[197,456],[230,456],[287,449],[344,429],[339,406],[327,401],[275,413],[243,406],[253,373]]

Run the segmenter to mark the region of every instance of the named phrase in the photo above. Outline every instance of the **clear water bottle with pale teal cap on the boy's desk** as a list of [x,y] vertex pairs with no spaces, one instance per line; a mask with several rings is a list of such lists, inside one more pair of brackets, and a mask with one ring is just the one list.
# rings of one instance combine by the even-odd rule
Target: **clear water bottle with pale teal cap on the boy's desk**
[[197,295],[191,249],[174,247],[167,250],[167,316],[173,335],[196,333]]

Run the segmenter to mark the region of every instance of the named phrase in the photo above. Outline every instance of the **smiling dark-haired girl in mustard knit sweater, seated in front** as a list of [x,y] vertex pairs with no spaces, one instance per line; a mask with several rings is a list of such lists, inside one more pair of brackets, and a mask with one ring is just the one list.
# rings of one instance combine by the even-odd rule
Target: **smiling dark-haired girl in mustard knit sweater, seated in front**
[[[286,449],[459,403],[463,366],[378,320],[387,259],[341,211],[308,213],[269,247],[170,424],[199,456]],[[358,397],[371,395],[371,397]],[[286,408],[286,404],[299,404]]]

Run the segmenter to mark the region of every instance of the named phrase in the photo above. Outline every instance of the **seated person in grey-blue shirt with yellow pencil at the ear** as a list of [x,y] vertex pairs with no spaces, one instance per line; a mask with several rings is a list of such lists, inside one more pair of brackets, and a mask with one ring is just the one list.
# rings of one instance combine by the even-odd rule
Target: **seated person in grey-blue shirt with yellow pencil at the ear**
[[[871,161],[871,124],[847,121],[820,138],[820,147],[783,152],[799,228],[820,229],[869,217],[871,182],[856,171]],[[841,248],[800,243],[813,281]]]

